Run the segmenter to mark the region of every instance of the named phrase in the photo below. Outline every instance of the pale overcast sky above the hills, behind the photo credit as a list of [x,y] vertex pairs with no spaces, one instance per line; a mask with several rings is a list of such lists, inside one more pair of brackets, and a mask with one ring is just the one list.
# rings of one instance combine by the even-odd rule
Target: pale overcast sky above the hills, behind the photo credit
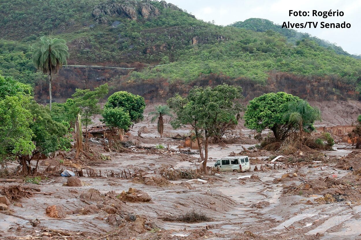
[[[248,18],[265,18],[282,25],[291,23],[318,22],[317,28],[302,28],[296,31],[335,43],[351,54],[361,54],[361,0],[168,0],[197,19],[214,20],[217,25],[229,25]],[[312,10],[343,11],[343,17],[313,17]],[[309,17],[289,17],[289,10],[309,11]],[[351,28],[320,28],[325,23],[350,23]]]

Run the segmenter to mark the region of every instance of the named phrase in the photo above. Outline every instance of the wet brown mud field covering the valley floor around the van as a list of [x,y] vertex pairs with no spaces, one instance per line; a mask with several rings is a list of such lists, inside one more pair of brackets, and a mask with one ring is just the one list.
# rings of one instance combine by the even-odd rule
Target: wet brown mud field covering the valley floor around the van
[[[325,159],[333,161],[277,164],[282,167],[275,169],[265,165],[270,159],[264,160],[274,153],[250,151],[249,172],[172,180],[173,175],[162,178],[160,169],[194,174],[189,169],[199,167],[199,155],[196,150],[178,151],[182,140],[160,139],[156,125],[147,121],[134,126],[129,140],[165,149],[129,147],[122,153],[103,152],[109,157],[96,162],[58,156],[39,162],[40,170],[47,169],[39,185],[2,182],[0,191],[21,189],[17,188],[18,197],[8,193],[11,205],[0,211],[0,239],[361,239],[361,178],[345,170],[344,165],[353,162],[341,164],[350,149],[325,152]],[[148,133],[135,137],[144,126]],[[168,136],[188,132],[165,128]],[[254,146],[249,134],[242,130],[243,138],[236,143],[211,145],[208,166]],[[253,171],[255,166],[262,171]],[[68,178],[58,173],[76,168],[83,169],[83,177],[67,186]],[[112,171],[127,178],[112,177]],[[181,219],[192,213],[206,220]]]

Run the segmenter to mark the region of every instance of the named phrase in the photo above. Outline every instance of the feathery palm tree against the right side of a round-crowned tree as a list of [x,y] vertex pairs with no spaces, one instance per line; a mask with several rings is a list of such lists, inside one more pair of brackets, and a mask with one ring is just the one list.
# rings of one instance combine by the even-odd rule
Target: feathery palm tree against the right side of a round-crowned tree
[[316,120],[321,120],[321,111],[310,106],[307,101],[301,100],[300,102],[291,102],[288,105],[288,111],[283,117],[288,123],[297,126],[302,141],[304,127],[307,124],[313,124]]

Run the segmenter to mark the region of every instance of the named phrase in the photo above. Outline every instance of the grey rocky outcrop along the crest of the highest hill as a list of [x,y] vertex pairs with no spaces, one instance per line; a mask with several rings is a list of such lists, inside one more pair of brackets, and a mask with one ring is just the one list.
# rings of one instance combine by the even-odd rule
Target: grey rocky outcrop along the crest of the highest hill
[[[125,17],[132,20],[137,20],[139,17],[149,18],[160,15],[160,9],[151,4],[150,0],[135,1],[135,0],[108,0],[97,5],[92,12],[92,15],[97,23],[109,23],[109,17]],[[160,1],[160,4],[165,9],[171,9],[183,12],[182,9],[171,3]]]

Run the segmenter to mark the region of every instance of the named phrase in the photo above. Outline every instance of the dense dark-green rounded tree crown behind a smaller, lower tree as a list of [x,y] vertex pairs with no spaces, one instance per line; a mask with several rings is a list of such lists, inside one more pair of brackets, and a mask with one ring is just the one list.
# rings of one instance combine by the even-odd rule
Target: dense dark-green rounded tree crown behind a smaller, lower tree
[[105,108],[121,107],[127,111],[130,120],[138,123],[143,120],[143,111],[145,109],[144,98],[139,95],[134,95],[125,91],[116,92],[110,95],[108,101],[105,103]]

